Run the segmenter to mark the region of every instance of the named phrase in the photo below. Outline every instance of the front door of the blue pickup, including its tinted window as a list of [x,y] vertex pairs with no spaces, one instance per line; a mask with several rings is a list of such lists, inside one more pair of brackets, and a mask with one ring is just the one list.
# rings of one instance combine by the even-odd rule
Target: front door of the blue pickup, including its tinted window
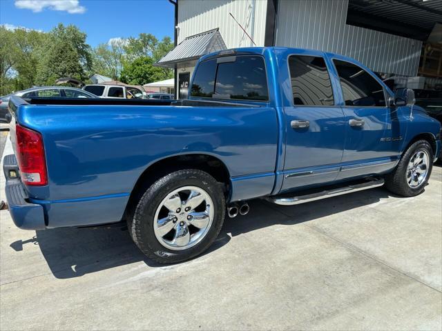
[[346,125],[338,179],[392,169],[405,136],[403,109],[389,107],[383,84],[367,70],[348,61],[332,61],[342,89]]

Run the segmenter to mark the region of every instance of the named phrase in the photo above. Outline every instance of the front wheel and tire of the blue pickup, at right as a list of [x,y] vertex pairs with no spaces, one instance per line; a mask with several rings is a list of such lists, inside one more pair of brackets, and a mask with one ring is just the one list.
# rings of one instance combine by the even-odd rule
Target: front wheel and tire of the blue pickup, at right
[[394,171],[385,176],[385,187],[403,197],[421,194],[430,178],[433,159],[430,143],[416,141],[405,151]]

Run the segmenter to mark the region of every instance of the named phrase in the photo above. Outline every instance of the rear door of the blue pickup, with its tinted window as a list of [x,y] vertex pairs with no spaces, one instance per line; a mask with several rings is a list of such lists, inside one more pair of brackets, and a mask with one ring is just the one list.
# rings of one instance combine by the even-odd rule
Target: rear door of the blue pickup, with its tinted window
[[287,141],[282,191],[334,181],[345,141],[344,113],[336,105],[325,59],[291,55],[288,65],[293,96],[291,106],[284,108]]

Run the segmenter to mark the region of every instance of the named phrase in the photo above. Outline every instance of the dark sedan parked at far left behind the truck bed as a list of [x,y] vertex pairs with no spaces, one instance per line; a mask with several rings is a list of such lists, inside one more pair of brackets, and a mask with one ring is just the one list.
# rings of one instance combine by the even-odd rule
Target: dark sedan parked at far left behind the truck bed
[[86,92],[79,88],[70,88],[67,86],[41,86],[37,88],[28,88],[4,97],[0,97],[0,123],[7,123],[6,114],[8,114],[8,103],[11,95],[17,97],[45,97],[45,98],[96,98],[95,94]]

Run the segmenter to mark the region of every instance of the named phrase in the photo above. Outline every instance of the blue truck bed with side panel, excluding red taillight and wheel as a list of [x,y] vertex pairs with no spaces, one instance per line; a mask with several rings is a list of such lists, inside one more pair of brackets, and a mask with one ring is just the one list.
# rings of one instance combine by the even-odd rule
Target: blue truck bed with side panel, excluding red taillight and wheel
[[46,227],[112,223],[122,219],[142,174],[171,158],[224,165],[231,199],[269,194],[278,123],[275,108],[260,105],[12,97],[11,140],[15,145],[16,123],[41,134],[48,185],[24,190],[29,203],[44,207]]

